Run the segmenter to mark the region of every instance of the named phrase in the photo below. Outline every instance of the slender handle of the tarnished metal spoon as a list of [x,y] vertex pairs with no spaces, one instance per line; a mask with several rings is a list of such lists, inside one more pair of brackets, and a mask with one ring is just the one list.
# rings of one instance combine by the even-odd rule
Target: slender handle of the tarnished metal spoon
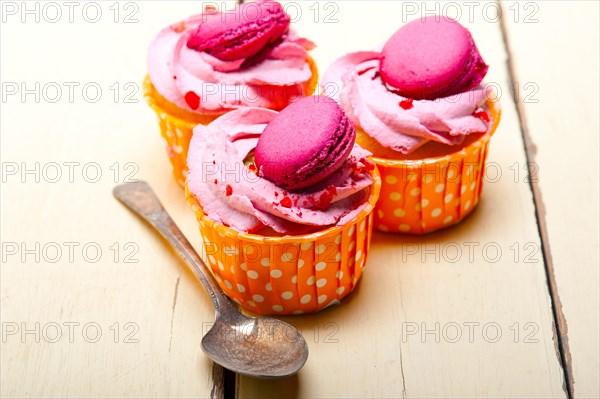
[[148,183],[138,181],[137,183],[121,184],[113,189],[113,194],[125,206],[154,227],[171,244],[202,282],[218,314],[231,310],[231,303],[225,298],[208,267],[163,208]]

